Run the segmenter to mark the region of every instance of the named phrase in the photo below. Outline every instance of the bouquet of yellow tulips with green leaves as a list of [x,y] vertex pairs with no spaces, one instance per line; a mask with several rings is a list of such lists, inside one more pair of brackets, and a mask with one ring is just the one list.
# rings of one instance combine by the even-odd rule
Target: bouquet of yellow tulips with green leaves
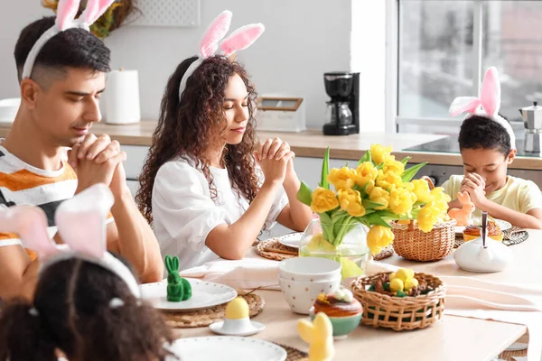
[[412,180],[426,162],[406,169],[410,157],[399,162],[391,152],[391,146],[373,144],[356,168],[347,164],[330,171],[328,148],[320,186],[312,190],[302,182],[297,199],[318,214],[322,238],[332,247],[341,245],[360,223],[369,227],[367,245],[376,255],[393,242],[390,220],[416,220],[423,232],[429,232],[448,219],[450,197],[444,190],[430,190],[426,180]]

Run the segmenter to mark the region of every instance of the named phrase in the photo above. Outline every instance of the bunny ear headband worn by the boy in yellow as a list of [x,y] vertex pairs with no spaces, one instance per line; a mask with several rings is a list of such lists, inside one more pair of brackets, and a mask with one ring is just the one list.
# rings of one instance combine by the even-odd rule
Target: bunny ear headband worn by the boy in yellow
[[500,109],[500,81],[497,68],[491,67],[483,77],[480,97],[456,97],[450,106],[450,116],[459,116],[462,113],[469,113],[465,117],[486,116],[499,123],[506,129],[510,136],[510,146],[516,149],[516,135],[509,122],[499,116]]

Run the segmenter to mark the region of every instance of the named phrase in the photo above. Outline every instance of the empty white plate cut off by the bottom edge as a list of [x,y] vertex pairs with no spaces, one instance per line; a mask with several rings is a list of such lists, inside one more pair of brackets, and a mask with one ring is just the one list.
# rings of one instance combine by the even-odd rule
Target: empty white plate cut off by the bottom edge
[[179,338],[169,347],[182,361],[285,361],[286,350],[257,338],[210,336]]

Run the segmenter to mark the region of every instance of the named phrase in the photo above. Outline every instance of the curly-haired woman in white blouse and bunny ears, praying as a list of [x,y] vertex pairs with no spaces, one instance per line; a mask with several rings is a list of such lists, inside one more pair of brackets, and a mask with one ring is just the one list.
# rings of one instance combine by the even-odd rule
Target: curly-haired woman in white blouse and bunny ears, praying
[[[264,31],[232,32],[231,13],[211,23],[200,54],[168,81],[137,201],[163,254],[181,269],[219,257],[240,259],[276,221],[301,231],[310,208],[295,198],[294,153],[280,139],[257,143],[256,92],[247,71],[228,59]],[[221,41],[221,42],[220,42]]]

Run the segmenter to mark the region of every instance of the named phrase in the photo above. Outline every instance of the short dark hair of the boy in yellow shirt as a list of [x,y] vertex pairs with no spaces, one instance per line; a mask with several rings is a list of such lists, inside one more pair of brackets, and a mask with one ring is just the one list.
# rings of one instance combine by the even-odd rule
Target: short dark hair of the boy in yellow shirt
[[494,149],[508,156],[511,149],[510,136],[504,126],[485,116],[471,116],[465,119],[459,131],[458,141],[460,150]]

